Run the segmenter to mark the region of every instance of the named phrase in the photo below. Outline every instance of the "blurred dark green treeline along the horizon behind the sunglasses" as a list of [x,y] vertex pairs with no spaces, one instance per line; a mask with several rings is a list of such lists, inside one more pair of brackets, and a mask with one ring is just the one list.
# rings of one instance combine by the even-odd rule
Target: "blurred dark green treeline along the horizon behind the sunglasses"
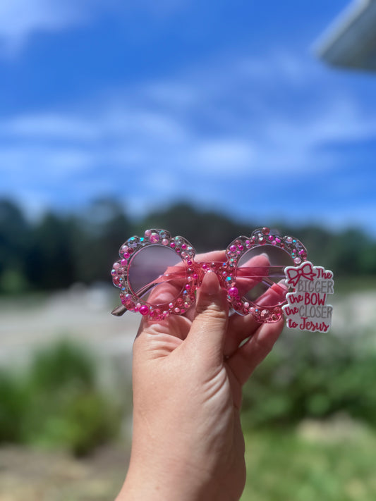
[[[325,228],[278,228],[301,240],[315,264],[336,276],[376,275],[376,242],[360,230],[330,233]],[[147,228],[183,235],[200,252],[223,249],[238,235],[250,235],[260,221],[239,223],[214,211],[179,203],[134,221],[119,202],[101,199],[80,214],[49,211],[35,222],[8,199],[0,199],[0,292],[54,290],[72,283],[109,281],[109,270],[128,237]]]

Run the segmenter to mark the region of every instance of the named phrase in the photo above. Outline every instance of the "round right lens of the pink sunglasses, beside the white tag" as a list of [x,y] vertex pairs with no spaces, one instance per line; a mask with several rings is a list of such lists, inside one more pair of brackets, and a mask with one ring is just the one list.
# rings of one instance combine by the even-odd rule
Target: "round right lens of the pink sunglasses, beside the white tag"
[[238,289],[248,302],[257,306],[278,306],[285,302],[288,292],[284,280],[285,266],[294,266],[294,263],[284,249],[273,245],[254,247],[239,259]]

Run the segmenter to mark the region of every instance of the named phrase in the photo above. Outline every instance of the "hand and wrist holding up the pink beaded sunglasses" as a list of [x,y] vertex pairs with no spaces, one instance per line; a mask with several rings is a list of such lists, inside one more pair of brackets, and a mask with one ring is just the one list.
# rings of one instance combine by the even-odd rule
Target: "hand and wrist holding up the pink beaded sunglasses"
[[[199,257],[222,261],[224,252]],[[265,266],[265,259],[257,256],[253,265]],[[131,462],[118,501],[241,497],[241,389],[282,328],[282,320],[229,316],[226,292],[212,272],[186,316],[142,318],[133,347]]]

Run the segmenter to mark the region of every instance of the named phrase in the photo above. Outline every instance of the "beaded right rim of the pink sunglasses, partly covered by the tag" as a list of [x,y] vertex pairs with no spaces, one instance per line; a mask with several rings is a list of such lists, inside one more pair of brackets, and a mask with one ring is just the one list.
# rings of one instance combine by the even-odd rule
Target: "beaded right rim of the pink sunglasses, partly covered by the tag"
[[281,237],[280,235],[270,233],[269,228],[259,228],[254,230],[250,237],[238,237],[234,242],[231,242],[226,249],[226,257],[228,259],[231,272],[226,279],[227,299],[231,307],[241,315],[252,314],[258,322],[276,322],[282,316],[280,306],[276,307],[257,307],[239,295],[236,287],[236,267],[238,261],[248,252],[249,249],[260,247],[262,245],[272,245],[284,249],[284,252],[291,256],[291,259],[296,266],[307,259],[307,251],[303,244],[293,237]]

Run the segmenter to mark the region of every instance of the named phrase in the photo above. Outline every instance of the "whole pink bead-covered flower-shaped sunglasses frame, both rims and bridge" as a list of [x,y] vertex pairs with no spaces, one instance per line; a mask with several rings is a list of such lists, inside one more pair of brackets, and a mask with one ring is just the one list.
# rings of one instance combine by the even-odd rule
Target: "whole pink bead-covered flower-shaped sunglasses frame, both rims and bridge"
[[[128,271],[131,259],[141,249],[150,245],[169,247],[174,250],[180,257],[185,268],[183,273],[185,273],[186,284],[182,288],[181,294],[178,295],[174,301],[169,302],[169,304],[157,306],[150,304],[136,295],[129,284]],[[276,322],[283,314],[281,307],[283,304],[286,304],[286,301],[272,307],[260,306],[255,302],[250,302],[246,297],[242,297],[236,287],[236,271],[241,257],[250,249],[265,245],[283,249],[284,252],[291,257],[292,262],[296,264],[296,266],[307,260],[307,251],[299,240],[290,236],[281,237],[280,235],[271,233],[269,228],[258,228],[253,231],[250,237],[237,237],[227,247],[226,261],[224,262],[195,261],[195,249],[185,238],[181,236],[172,237],[166,230],[146,230],[143,237],[135,236],[129,238],[119,250],[121,259],[114,263],[111,270],[111,276],[114,285],[121,290],[121,306],[116,307],[111,313],[116,316],[121,316],[126,310],[138,311],[140,314],[148,316],[154,321],[163,320],[170,314],[184,314],[195,302],[195,290],[200,287],[205,273],[207,273],[207,271],[214,271],[217,273],[222,287],[227,291],[227,300],[231,308],[238,314],[252,314],[256,321],[260,323]],[[157,280],[167,281],[166,278],[159,278]],[[154,286],[157,280],[155,280],[151,286]],[[267,280],[267,277],[265,277],[265,280]],[[142,290],[142,293],[144,292],[145,291]]]

